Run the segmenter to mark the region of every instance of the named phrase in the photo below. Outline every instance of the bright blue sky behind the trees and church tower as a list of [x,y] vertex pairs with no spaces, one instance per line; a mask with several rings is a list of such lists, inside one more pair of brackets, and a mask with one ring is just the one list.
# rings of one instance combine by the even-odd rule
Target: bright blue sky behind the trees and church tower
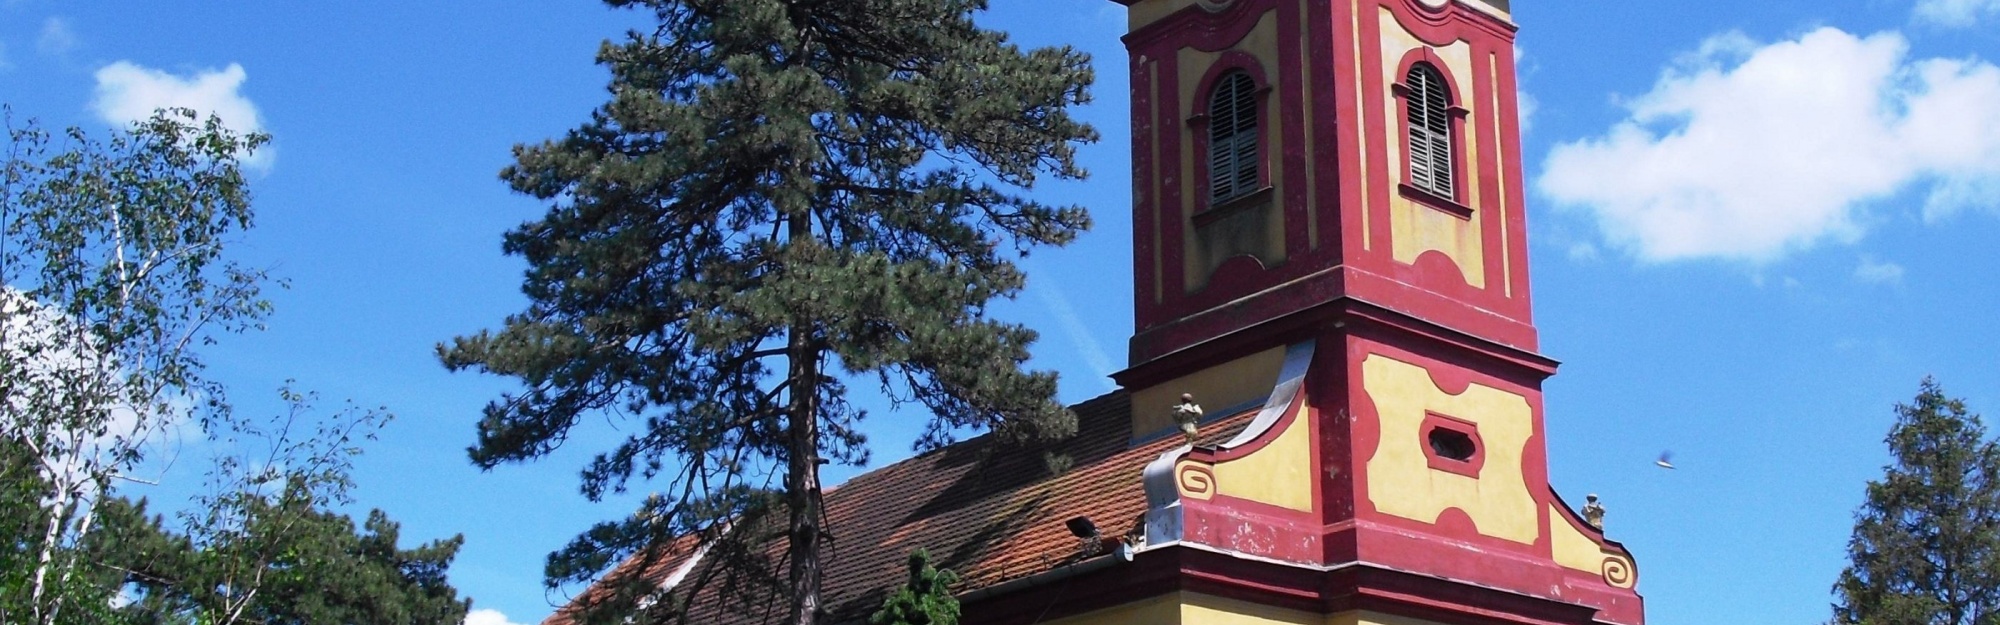
[[[1604,497],[1652,623],[1824,621],[1890,407],[1936,375],[2000,415],[2000,0],[1514,4],[1536,323],[1564,361],[1554,483]],[[480,473],[464,447],[506,381],[448,375],[432,345],[522,306],[500,232],[542,206],[496,172],[584,120],[606,78],[590,58],[632,24],[592,2],[0,0],[0,102],[92,128],[194,104],[272,132],[240,252],[292,288],[270,331],[208,351],[212,373],[246,411],[298,379],[400,415],[358,463],[356,509],[406,541],[464,533],[474,623],[534,623],[562,599],[544,553],[630,511],[576,495],[618,425]],[[1096,176],[1038,188],[1098,226],[1000,306],[1088,399],[1132,331],[1122,14],[1000,0],[988,24],[1098,58]],[[876,465],[908,455],[912,423],[876,417]],[[1652,467],[1662,449],[1678,471]],[[188,479],[168,477],[154,497]]]

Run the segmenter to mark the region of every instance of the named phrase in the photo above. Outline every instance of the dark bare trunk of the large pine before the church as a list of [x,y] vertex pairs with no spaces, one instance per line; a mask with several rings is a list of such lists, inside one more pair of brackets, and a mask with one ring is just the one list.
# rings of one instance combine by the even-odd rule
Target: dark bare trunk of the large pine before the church
[[[812,236],[812,222],[794,216],[790,238]],[[786,557],[792,563],[792,625],[814,625],[820,617],[820,349],[812,341],[810,323],[792,323],[786,345],[790,353],[790,419],[786,473],[786,509],[790,531]]]

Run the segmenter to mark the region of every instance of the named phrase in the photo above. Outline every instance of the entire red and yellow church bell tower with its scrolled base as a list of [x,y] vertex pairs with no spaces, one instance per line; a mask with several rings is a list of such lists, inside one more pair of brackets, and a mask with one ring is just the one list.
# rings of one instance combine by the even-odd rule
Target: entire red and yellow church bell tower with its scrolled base
[[1642,625],[1632,555],[1548,485],[1508,0],[1114,2],[1116,379],[1134,445],[1182,395],[1212,435],[1148,465],[1144,549],[1326,623]]

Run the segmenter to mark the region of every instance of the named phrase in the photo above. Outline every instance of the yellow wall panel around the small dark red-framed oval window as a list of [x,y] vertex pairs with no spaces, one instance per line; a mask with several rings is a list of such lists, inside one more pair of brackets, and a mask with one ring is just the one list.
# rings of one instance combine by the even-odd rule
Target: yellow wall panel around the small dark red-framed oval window
[[[1522,455],[1534,437],[1534,409],[1526,397],[1484,385],[1450,395],[1424,367],[1384,355],[1362,361],[1362,389],[1380,419],[1380,437],[1368,459],[1368,501],[1376,511],[1438,523],[1446,509],[1460,509],[1488,537],[1534,543],[1542,535],[1538,507],[1522,475]],[[1426,413],[1478,427],[1486,453],[1478,477],[1430,467],[1422,433]]]

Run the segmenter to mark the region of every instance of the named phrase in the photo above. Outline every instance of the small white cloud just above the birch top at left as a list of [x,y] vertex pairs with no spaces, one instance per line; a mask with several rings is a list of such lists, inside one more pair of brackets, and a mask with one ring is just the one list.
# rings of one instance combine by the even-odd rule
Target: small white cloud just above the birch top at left
[[[120,60],[98,68],[98,90],[90,108],[112,124],[130,124],[150,118],[154,110],[166,106],[194,108],[200,116],[220,116],[222,124],[236,132],[262,132],[264,120],[256,104],[242,94],[244,80],[250,78],[244,66],[230,64],[222,70],[200,70],[192,76],[168,74],[146,68],[130,60]],[[260,148],[250,166],[268,168],[270,146]]]

